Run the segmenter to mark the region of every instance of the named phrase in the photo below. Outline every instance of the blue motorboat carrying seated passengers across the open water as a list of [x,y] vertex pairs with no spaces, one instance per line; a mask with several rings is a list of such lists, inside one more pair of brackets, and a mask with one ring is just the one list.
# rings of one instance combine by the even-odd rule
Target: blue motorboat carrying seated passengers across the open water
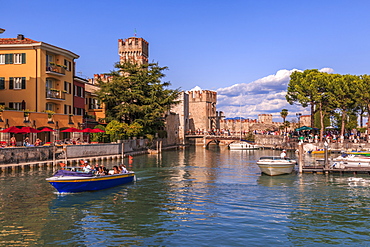
[[60,193],[75,193],[108,189],[134,181],[135,173],[95,175],[94,170],[81,167],[65,167],[58,170],[48,181]]

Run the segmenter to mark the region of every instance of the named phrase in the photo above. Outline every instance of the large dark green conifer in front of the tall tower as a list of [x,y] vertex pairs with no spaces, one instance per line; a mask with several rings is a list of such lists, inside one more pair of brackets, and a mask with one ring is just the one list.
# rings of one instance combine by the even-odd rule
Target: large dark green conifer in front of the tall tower
[[[164,116],[173,104],[179,90],[171,90],[169,82],[162,82],[167,67],[157,63],[117,63],[108,82],[99,82],[99,99],[106,105],[106,121],[125,123],[126,134],[155,134],[164,126]],[[134,124],[134,125],[133,125]],[[135,129],[130,132],[131,126]],[[108,127],[108,126],[107,126]],[[131,134],[129,134],[131,135]]]

